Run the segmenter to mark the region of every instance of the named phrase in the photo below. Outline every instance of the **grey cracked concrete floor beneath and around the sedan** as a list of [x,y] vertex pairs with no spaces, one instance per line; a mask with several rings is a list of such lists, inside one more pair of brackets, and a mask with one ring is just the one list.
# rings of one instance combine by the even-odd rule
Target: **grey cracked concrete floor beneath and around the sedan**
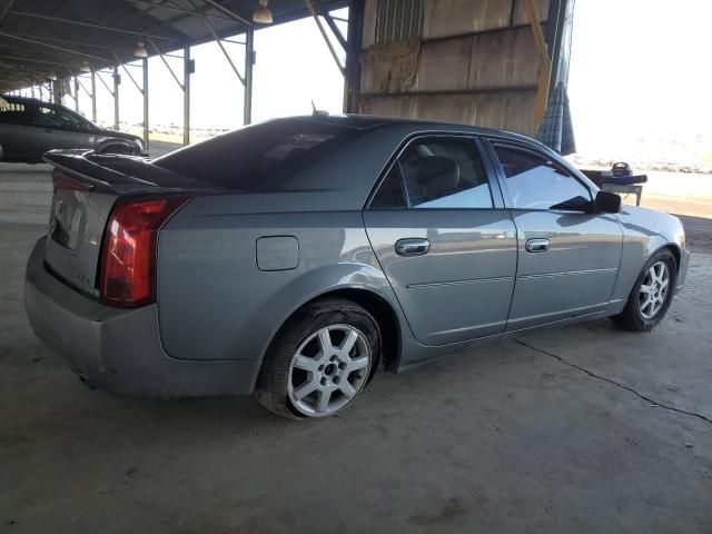
[[294,423],[82,386],[22,305],[49,195],[0,166],[0,532],[712,532],[710,219],[653,333],[543,329]]

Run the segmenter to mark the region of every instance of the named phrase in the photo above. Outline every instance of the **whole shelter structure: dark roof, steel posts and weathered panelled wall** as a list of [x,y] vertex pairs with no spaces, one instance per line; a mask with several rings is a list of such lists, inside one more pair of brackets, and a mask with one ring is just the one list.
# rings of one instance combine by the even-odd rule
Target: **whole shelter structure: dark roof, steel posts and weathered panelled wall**
[[[67,80],[73,80],[75,96],[80,87],[91,95],[96,119],[100,82],[113,96],[118,128],[125,78],[144,96],[148,144],[147,58],[160,56],[184,92],[188,144],[191,46],[219,44],[245,87],[244,122],[250,122],[254,31],[264,27],[253,13],[263,4],[275,24],[314,17],[344,75],[347,112],[534,135],[547,98],[554,90],[565,95],[574,0],[0,0],[0,91],[47,82],[57,100]],[[329,13],[346,7],[345,36]],[[226,40],[244,46],[244,71],[222,44]],[[142,81],[127,68],[137,56],[145,56]],[[171,69],[166,56],[181,58],[182,72]],[[98,76],[107,69],[110,77]],[[78,81],[82,72],[91,75],[89,89]],[[548,117],[565,117],[556,111]],[[554,132],[560,126],[546,123]]]

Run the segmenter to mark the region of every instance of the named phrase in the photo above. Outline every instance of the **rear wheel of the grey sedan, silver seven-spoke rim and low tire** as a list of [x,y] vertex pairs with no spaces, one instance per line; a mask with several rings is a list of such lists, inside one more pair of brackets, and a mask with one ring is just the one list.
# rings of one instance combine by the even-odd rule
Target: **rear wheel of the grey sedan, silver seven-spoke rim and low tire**
[[257,399],[293,419],[336,415],[364,389],[379,354],[378,324],[366,309],[340,298],[317,300],[290,317],[270,343]]

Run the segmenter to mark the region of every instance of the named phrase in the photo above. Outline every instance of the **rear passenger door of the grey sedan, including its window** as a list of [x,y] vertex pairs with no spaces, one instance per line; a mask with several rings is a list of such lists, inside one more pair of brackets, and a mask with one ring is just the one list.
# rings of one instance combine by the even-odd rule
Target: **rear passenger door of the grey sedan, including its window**
[[415,138],[364,211],[378,261],[424,345],[496,336],[505,328],[515,228],[487,169],[472,137]]

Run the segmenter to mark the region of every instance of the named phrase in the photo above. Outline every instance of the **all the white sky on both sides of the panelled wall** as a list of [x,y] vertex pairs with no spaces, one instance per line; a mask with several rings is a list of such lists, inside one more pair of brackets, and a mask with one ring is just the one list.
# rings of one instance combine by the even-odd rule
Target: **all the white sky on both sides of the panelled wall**
[[[695,137],[712,142],[711,23],[712,0],[576,0],[570,97],[578,151],[625,158],[689,150]],[[243,47],[226,46],[244,72]],[[255,121],[308,113],[312,99],[342,110],[343,79],[313,19],[261,29],[255,48]],[[240,126],[243,87],[217,44],[195,47],[192,57],[192,127]],[[169,61],[181,76],[181,60]],[[132,72],[140,83],[140,69]],[[151,126],[180,126],[181,92],[159,58],[149,75]],[[111,97],[98,92],[99,122],[110,125]],[[121,120],[139,123],[140,95],[126,73],[120,95]],[[80,107],[90,115],[85,93]]]

